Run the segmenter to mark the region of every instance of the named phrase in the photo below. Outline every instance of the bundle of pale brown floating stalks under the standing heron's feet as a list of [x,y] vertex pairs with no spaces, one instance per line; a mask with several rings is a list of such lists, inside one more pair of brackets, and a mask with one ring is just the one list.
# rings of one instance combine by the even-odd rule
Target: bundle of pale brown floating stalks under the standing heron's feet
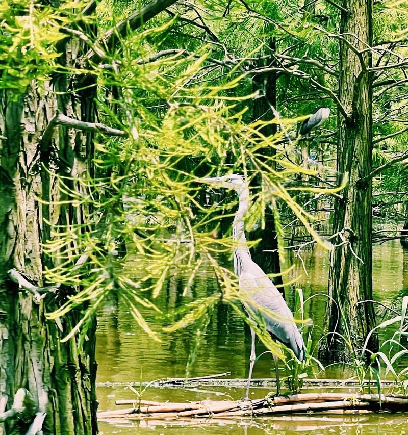
[[201,400],[197,402],[152,402],[121,400],[132,408],[98,413],[101,422],[173,419],[185,417],[253,417],[310,412],[401,411],[408,408],[408,396],[396,394],[304,393],[256,400]]

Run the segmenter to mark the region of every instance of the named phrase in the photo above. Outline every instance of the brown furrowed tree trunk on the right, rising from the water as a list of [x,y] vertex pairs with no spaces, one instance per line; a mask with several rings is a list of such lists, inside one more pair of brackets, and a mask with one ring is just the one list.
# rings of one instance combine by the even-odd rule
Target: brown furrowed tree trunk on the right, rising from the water
[[[342,6],[349,12],[342,12],[340,33],[356,35],[344,38],[356,49],[366,49],[372,43],[371,0],[344,0]],[[339,96],[351,117],[338,117],[338,183],[344,174],[349,181],[344,199],[335,203],[333,233],[339,236],[333,243],[339,246],[331,254],[328,295],[333,299],[327,306],[327,343],[320,349],[320,357],[329,362],[351,361],[375,326],[373,304],[358,303],[372,299],[372,78],[365,70],[371,59],[366,51],[360,60],[341,41],[340,62]],[[369,349],[376,347],[373,335]]]

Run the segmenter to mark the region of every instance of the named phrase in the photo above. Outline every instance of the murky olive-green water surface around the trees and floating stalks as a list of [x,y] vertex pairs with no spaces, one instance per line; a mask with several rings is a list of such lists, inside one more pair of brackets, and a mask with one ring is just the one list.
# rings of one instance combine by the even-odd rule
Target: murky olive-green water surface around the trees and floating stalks
[[[305,298],[317,293],[326,293],[328,274],[327,252],[319,249],[303,252],[303,262],[308,275],[305,274],[299,259],[288,258],[287,266],[295,264],[294,270],[285,277],[286,282],[297,278],[297,283],[286,287],[289,304],[293,300],[295,287],[301,287]],[[221,261],[231,267],[227,256]],[[138,267],[137,267],[138,266]],[[403,251],[397,241],[374,247],[373,260],[374,298],[390,303],[401,289],[408,287],[408,251]],[[134,265],[134,276],[143,271]],[[140,276],[140,275],[139,275]],[[217,290],[211,270],[203,267],[197,274],[191,295],[183,298],[182,292],[187,278],[171,277],[156,299],[164,312],[198,296],[211,295]],[[189,297],[190,296],[190,297]],[[398,302],[397,302],[398,303]],[[324,314],[323,296],[312,298],[305,307],[307,315],[319,324]],[[155,319],[152,312],[144,313],[149,323],[159,329],[162,320]],[[173,336],[166,336],[161,343],[152,341],[141,331],[127,312],[120,300],[112,295],[110,301],[100,313],[97,330],[97,361],[99,410],[118,408],[117,399],[134,399],[135,395],[125,385],[130,381],[150,381],[163,377],[185,376],[185,366],[190,352],[191,330],[183,329]],[[198,350],[195,364],[190,376],[205,376],[231,371],[231,377],[247,376],[250,352],[249,330],[242,320],[226,305],[219,305],[208,327],[205,342]],[[257,353],[262,352],[262,345],[257,345]],[[403,364],[408,366],[408,361]],[[274,377],[270,371],[270,355],[263,356],[254,368],[253,377]],[[342,369],[331,370],[322,377],[348,377],[350,373]],[[101,383],[111,385],[103,386]],[[251,389],[251,398],[264,397],[269,390]],[[309,390],[319,391],[319,390]],[[155,401],[194,401],[210,399],[238,399],[243,396],[242,389],[236,388],[147,388],[144,400]],[[368,434],[368,433],[408,433],[408,413],[397,414],[314,414],[267,417],[241,420],[194,419],[174,422],[141,421],[137,423],[110,425],[100,423],[103,434]],[[406,431],[406,432],[405,432]]]

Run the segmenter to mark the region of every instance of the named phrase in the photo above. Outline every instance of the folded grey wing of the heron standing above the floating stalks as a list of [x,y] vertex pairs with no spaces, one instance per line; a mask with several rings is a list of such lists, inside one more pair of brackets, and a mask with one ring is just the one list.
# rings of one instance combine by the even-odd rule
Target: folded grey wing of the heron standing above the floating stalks
[[303,361],[303,338],[294,322],[292,312],[262,269],[256,263],[254,266],[257,266],[253,270],[254,273],[244,272],[239,277],[244,306],[262,317],[267,330],[292,349],[298,360]]

